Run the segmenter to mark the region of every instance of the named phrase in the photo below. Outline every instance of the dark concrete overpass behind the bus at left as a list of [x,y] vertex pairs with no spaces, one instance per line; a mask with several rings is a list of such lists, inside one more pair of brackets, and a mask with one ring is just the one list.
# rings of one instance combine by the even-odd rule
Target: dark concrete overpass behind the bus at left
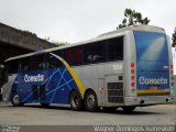
[[38,38],[36,35],[0,23],[0,65],[4,59],[56,45]]

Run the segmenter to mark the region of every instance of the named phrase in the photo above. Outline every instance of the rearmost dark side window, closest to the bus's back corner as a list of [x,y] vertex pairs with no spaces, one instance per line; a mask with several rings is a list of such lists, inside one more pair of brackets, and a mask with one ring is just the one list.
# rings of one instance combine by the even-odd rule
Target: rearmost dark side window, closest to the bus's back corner
[[111,38],[108,43],[108,58],[123,61],[123,37]]

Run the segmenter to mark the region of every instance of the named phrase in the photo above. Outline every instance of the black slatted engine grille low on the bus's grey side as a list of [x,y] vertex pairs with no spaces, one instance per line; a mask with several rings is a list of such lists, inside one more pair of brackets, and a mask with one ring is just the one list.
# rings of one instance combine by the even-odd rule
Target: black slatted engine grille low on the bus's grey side
[[108,101],[124,102],[123,82],[108,82]]

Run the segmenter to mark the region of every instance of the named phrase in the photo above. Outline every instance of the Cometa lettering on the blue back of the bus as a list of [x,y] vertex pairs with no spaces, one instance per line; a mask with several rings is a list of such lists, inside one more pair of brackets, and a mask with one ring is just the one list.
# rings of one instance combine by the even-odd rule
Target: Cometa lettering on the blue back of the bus
[[157,78],[157,79],[153,79],[153,78],[145,78],[145,77],[140,77],[139,82],[141,85],[166,85],[167,84],[167,79],[166,78]]

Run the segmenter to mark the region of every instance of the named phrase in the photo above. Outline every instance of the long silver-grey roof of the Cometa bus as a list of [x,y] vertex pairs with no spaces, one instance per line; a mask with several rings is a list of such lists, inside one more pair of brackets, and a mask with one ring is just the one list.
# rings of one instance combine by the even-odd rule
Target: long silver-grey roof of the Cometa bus
[[122,29],[118,29],[116,31],[111,31],[111,32],[108,32],[108,33],[100,34],[100,35],[98,35],[97,37],[95,37],[92,40],[78,42],[78,43],[74,43],[74,44],[70,44],[70,45],[64,45],[64,46],[59,46],[59,47],[53,47],[53,48],[48,48],[48,50],[37,51],[37,52],[24,54],[24,55],[19,55],[19,56],[10,57],[10,58],[6,59],[4,62],[18,59],[18,58],[23,58],[23,57],[29,57],[29,56],[33,56],[33,55],[37,55],[37,54],[42,54],[42,53],[50,53],[50,52],[54,52],[54,51],[57,51],[57,50],[63,50],[63,48],[67,48],[67,47],[74,47],[74,46],[88,44],[88,43],[92,43],[92,42],[98,42],[98,41],[102,41],[102,40],[106,40],[106,38],[116,37],[119,34],[124,34],[125,31],[145,31],[145,32],[165,33],[164,29],[158,28],[158,26],[153,26],[153,25],[131,25],[131,26],[128,26],[128,28],[122,28]]

